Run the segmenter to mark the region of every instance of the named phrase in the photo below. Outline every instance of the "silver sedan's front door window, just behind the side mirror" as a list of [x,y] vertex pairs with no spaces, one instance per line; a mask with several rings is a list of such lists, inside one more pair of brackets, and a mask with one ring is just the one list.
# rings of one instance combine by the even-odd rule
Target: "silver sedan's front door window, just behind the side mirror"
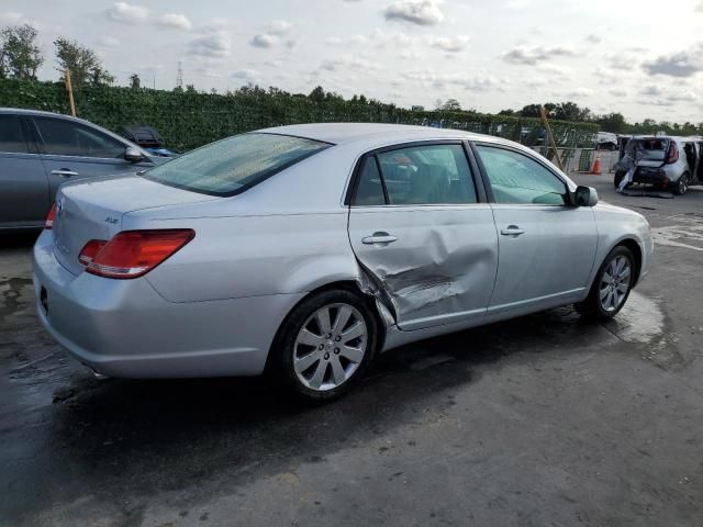
[[568,189],[555,173],[514,150],[477,145],[498,203],[563,205]]

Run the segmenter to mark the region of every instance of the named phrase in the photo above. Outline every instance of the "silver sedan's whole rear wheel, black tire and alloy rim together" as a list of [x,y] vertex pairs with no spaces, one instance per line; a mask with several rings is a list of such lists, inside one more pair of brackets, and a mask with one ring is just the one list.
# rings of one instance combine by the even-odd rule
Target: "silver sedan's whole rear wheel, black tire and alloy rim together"
[[336,399],[353,388],[373,359],[378,324],[369,305],[347,290],[303,300],[288,316],[276,345],[287,388],[303,399]]

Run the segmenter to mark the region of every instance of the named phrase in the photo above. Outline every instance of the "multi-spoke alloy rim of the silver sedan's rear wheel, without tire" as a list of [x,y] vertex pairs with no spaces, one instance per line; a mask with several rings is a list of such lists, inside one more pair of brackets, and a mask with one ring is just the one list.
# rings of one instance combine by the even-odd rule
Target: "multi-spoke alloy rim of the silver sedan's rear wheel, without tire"
[[295,338],[295,375],[311,390],[333,390],[354,375],[367,346],[368,328],[356,307],[345,303],[320,307]]

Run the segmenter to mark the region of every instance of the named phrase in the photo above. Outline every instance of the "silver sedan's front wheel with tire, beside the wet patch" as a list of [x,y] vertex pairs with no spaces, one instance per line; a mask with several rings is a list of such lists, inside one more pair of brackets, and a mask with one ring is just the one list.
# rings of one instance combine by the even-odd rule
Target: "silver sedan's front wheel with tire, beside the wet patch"
[[625,246],[617,246],[609,253],[595,274],[589,295],[574,304],[583,316],[593,319],[609,319],[623,309],[635,280],[635,258]]

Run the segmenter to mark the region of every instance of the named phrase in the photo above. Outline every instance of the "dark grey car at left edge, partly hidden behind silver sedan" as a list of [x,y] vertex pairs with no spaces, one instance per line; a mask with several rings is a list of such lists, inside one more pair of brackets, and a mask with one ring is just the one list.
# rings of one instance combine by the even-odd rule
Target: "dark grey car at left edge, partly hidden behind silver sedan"
[[0,108],[0,231],[42,227],[66,181],[135,173],[166,160],[81,119]]

